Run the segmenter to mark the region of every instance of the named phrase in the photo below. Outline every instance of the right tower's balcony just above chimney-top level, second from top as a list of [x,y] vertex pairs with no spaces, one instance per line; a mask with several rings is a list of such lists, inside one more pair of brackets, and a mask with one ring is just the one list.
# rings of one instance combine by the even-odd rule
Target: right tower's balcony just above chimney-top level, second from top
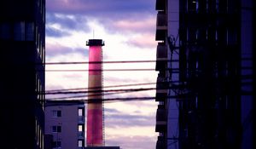
[[166,40],[166,32],[167,32],[166,12],[159,11],[157,13],[157,18],[156,18],[155,40],[156,41]]

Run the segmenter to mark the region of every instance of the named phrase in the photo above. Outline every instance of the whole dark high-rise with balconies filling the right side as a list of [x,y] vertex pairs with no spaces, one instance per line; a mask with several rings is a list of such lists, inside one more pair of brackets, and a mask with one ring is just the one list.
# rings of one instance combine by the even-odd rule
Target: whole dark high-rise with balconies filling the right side
[[155,9],[157,60],[168,60],[156,63],[156,148],[255,147],[255,2],[156,0]]

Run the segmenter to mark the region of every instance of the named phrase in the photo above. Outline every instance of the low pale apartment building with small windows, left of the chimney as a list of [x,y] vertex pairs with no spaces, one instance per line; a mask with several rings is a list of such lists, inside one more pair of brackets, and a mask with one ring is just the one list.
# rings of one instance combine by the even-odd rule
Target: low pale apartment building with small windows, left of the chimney
[[45,134],[52,135],[52,148],[84,148],[84,102],[48,100],[45,106]]

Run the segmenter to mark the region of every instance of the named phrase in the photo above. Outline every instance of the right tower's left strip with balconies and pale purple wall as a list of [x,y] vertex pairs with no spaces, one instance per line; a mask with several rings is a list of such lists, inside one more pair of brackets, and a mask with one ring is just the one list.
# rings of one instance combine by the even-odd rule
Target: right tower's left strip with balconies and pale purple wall
[[159,132],[156,148],[170,148],[170,146],[178,146],[176,95],[181,83],[178,75],[179,54],[176,44],[178,44],[179,12],[177,3],[166,0],[156,0],[155,9],[157,10],[155,40],[159,42],[155,66],[155,70],[159,72],[155,98],[159,102],[155,126],[155,131]]

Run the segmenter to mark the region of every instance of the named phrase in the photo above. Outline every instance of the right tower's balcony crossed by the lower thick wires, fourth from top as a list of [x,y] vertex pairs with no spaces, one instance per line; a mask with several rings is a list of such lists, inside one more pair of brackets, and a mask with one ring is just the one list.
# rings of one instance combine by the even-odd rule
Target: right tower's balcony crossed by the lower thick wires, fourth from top
[[166,77],[160,77],[160,75],[157,77],[157,83],[156,83],[156,94],[155,94],[155,100],[156,101],[164,101],[167,98],[168,95],[168,80]]

